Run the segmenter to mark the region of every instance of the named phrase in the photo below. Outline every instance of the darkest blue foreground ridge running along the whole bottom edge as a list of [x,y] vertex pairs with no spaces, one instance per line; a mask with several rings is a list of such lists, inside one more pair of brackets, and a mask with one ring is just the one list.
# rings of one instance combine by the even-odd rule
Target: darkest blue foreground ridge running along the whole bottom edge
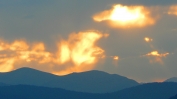
[[[32,85],[0,86],[0,99],[169,99],[177,83],[148,83],[113,93],[84,93]],[[171,98],[176,99],[176,98]]]

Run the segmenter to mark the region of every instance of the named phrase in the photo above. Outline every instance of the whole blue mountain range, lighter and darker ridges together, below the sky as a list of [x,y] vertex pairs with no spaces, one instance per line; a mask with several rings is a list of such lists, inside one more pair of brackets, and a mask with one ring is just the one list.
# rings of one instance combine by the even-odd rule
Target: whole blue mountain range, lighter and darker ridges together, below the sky
[[139,84],[97,70],[65,76],[32,68],[0,73],[0,99],[177,99],[175,95],[176,82]]

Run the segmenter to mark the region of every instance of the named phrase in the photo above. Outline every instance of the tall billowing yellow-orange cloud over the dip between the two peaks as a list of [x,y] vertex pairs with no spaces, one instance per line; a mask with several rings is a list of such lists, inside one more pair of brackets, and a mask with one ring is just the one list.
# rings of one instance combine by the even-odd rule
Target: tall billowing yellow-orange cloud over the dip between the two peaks
[[104,36],[107,37],[108,35],[95,31],[87,31],[77,34],[72,33],[67,41],[62,40],[58,46],[58,62],[72,62],[73,66],[61,72],[66,73],[67,70],[68,72],[80,72],[92,69],[94,64],[98,61],[98,57],[104,56],[104,50],[95,45],[96,41]]

